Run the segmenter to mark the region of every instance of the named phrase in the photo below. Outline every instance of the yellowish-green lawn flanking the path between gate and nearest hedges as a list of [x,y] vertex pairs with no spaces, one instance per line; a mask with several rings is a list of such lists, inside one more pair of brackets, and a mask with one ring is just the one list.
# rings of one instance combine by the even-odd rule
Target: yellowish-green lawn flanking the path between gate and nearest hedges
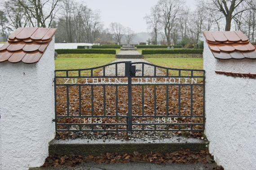
[[[203,69],[203,58],[200,56],[202,55],[157,54],[145,55],[145,59],[152,64],[168,68]],[[55,60],[55,69],[93,68],[108,64],[114,60],[115,55],[113,54],[61,54],[58,55],[57,60]],[[98,70],[95,70],[95,72],[96,71]],[[183,73],[190,74],[190,72]],[[170,71],[170,75],[171,74],[177,75],[178,73]]]

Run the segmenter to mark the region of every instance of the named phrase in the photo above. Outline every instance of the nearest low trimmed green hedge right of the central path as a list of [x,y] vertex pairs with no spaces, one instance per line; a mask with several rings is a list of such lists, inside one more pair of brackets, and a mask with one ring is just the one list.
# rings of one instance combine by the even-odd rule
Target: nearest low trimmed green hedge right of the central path
[[202,49],[142,50],[142,54],[203,54]]

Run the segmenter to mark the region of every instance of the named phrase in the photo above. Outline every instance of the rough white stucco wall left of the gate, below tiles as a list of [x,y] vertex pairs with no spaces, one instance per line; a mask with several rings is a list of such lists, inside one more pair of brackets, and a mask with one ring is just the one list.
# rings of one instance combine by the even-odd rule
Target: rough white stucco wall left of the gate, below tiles
[[54,38],[37,64],[0,63],[0,170],[42,166],[55,136]]

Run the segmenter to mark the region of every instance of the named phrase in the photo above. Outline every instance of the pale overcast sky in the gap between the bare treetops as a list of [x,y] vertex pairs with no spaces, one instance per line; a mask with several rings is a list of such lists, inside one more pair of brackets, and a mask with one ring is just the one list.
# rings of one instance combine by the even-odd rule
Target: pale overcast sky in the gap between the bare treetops
[[[119,22],[131,27],[135,32],[147,32],[146,21],[143,19],[149,14],[150,8],[158,0],[79,0],[85,2],[89,8],[100,10],[102,22],[108,27],[111,22]],[[192,10],[196,0],[185,0]]]

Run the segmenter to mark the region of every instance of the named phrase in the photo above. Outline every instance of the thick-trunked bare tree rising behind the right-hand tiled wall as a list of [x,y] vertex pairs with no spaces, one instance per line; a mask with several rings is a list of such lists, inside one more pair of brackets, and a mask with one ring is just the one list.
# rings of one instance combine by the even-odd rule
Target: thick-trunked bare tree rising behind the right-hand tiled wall
[[231,29],[231,21],[236,17],[239,13],[243,13],[250,8],[241,8],[239,10],[238,7],[247,3],[247,0],[212,0],[212,3],[215,5],[216,10],[220,11],[226,20],[225,31],[230,31]]

